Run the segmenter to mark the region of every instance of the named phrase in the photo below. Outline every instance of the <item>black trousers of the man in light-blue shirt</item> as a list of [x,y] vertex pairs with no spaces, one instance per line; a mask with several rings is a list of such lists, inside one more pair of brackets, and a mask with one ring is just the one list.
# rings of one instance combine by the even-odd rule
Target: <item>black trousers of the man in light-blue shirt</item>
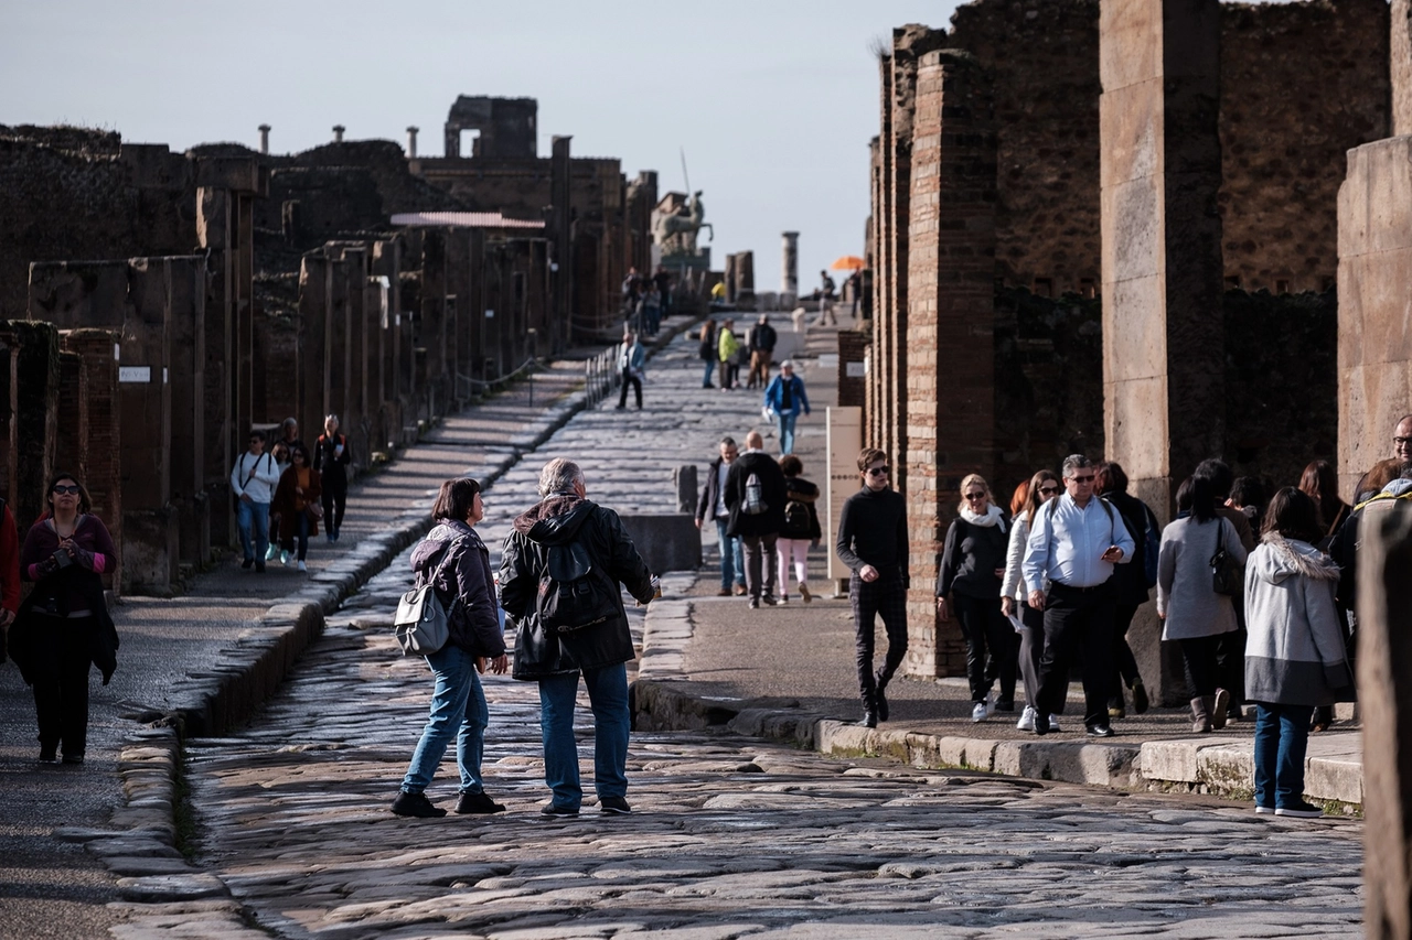
[[1069,666],[1083,663],[1083,723],[1108,724],[1113,675],[1113,582],[1077,589],[1053,584],[1045,598],[1045,652],[1039,661],[1039,711],[1059,714],[1069,693]]

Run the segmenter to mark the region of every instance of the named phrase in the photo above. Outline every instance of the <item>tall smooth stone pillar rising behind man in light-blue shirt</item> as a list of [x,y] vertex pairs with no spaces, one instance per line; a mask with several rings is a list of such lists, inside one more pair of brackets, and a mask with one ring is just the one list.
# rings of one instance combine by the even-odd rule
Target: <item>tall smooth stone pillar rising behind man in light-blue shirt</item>
[[[1106,456],[1162,522],[1226,433],[1220,18],[1217,0],[1103,0],[1099,18]],[[1176,704],[1159,632],[1147,605],[1130,644]]]

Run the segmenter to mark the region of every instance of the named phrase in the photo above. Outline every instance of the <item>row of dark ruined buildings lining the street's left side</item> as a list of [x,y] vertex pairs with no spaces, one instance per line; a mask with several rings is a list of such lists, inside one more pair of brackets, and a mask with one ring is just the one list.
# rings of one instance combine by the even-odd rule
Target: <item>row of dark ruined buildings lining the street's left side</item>
[[539,157],[535,110],[460,97],[433,159],[415,128],[405,152],[337,127],[271,155],[268,127],[258,152],[185,154],[0,127],[0,495],[18,524],[71,469],[117,584],[165,591],[232,542],[247,429],[292,415],[312,436],[335,412],[366,466],[530,357],[610,335],[623,272],[650,258],[655,174],[630,183],[568,137]]

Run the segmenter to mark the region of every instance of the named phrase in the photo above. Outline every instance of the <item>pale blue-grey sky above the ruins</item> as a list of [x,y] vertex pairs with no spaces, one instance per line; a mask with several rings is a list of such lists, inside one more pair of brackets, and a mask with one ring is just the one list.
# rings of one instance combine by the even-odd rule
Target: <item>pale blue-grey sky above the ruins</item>
[[[801,288],[863,254],[873,47],[895,25],[949,25],[952,0],[3,0],[0,124],[68,123],[172,150],[212,141],[297,152],[332,140],[439,155],[457,95],[539,100],[539,152],[620,157],[661,192],[703,191],[713,267],[755,253]],[[702,233],[705,241],[706,233]]]

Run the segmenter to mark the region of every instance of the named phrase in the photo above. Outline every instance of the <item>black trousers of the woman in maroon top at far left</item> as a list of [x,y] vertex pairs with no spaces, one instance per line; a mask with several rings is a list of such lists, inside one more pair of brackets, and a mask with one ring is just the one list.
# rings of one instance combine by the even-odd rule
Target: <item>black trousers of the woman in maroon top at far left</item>
[[97,618],[42,617],[45,662],[34,679],[34,713],[40,748],[64,745],[64,757],[83,757],[88,748],[88,676]]

